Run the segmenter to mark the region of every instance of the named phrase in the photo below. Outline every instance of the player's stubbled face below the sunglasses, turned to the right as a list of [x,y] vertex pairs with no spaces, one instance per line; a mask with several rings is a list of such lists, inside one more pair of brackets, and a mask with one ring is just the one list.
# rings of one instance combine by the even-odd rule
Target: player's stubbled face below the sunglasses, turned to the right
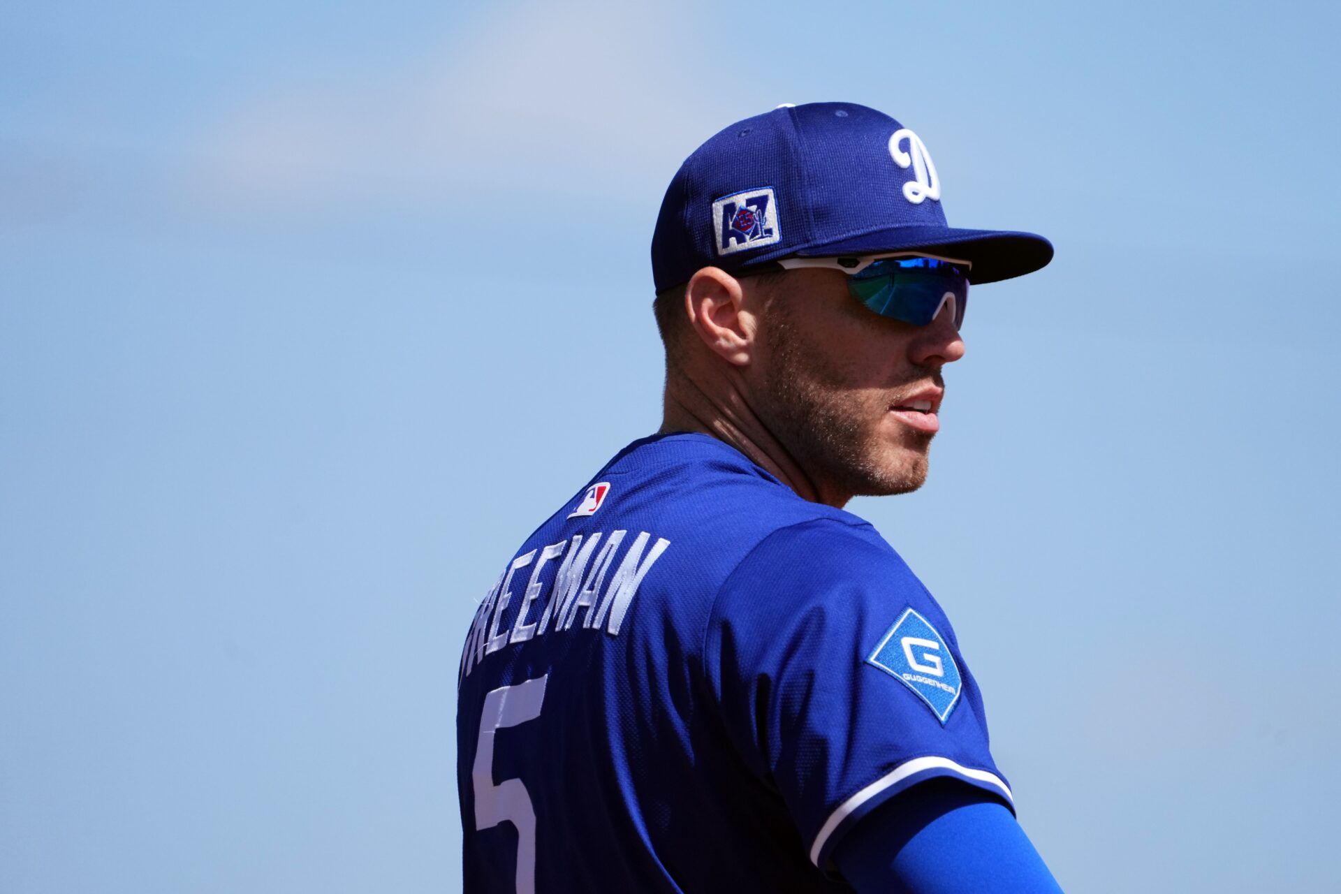
[[770,295],[750,373],[755,410],[825,501],[920,488],[939,428],[940,370],[964,355],[952,308],[928,326],[888,319],[829,269],[756,285]]

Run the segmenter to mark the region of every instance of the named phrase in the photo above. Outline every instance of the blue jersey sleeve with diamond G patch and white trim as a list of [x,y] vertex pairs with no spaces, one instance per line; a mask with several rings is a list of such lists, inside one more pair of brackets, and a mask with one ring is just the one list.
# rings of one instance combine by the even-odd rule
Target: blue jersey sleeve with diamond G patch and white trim
[[704,667],[727,736],[821,869],[862,816],[928,779],[1014,811],[949,622],[869,525],[817,519],[759,543],[717,594]]

